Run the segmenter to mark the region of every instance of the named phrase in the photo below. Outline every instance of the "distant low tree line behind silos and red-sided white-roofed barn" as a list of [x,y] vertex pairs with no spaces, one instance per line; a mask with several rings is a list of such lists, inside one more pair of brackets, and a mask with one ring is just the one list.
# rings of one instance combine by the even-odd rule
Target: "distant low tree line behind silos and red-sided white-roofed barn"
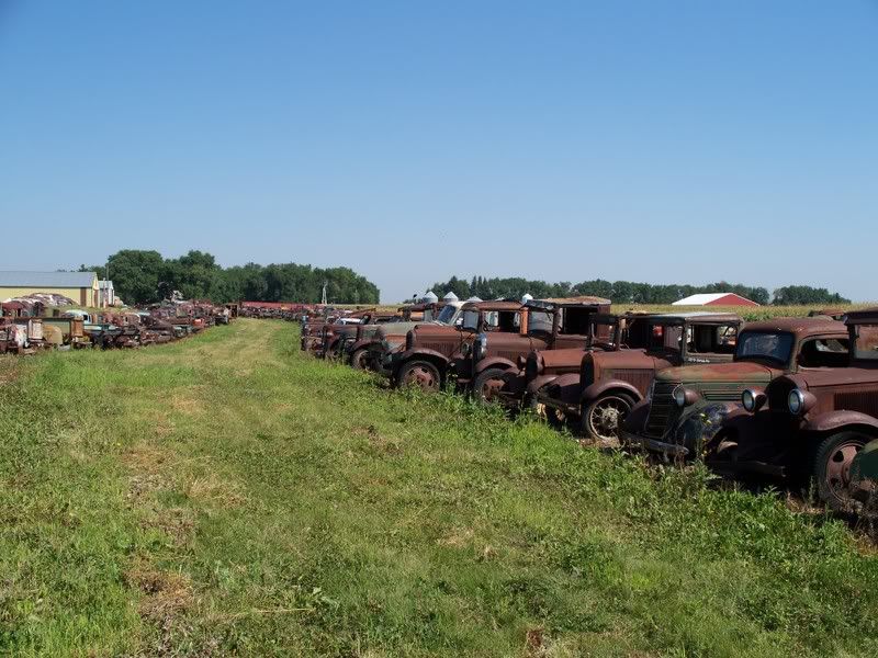
[[536,298],[594,295],[611,299],[616,304],[672,304],[697,293],[735,293],[763,305],[849,303],[849,299],[842,297],[838,293],[831,293],[826,288],[788,285],[776,288],[774,294],[770,295],[765,287],[728,283],[725,281],[707,285],[690,285],[635,283],[632,281],[610,282],[595,279],[574,284],[567,281],[547,283],[521,277],[473,276],[471,281],[466,281],[465,279],[452,276],[443,283],[434,283],[430,290],[439,295],[440,298],[446,293],[453,292],[461,299],[473,296],[482,299],[496,299],[498,297],[518,299],[528,293]]

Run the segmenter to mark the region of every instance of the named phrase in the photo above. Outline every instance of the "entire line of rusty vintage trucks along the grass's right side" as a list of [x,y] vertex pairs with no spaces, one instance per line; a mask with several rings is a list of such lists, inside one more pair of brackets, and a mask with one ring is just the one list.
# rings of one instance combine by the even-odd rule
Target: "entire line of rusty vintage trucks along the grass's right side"
[[601,444],[812,479],[836,510],[862,510],[878,481],[878,310],[744,322],[575,297],[417,313],[342,331],[341,358],[394,386],[534,408]]

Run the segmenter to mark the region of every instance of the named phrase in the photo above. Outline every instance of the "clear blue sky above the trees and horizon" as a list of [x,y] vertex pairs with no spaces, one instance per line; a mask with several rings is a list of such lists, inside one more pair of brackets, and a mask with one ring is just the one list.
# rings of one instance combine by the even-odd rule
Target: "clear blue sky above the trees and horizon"
[[4,270],[202,249],[384,300],[452,273],[874,300],[877,202],[876,2],[0,0]]

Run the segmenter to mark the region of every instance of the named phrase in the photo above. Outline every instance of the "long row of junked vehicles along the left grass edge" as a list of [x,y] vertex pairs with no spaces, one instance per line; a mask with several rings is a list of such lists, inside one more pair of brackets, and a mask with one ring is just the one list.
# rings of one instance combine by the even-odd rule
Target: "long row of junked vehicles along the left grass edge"
[[40,349],[137,348],[198,333],[237,317],[237,305],[165,302],[146,310],[52,309],[40,300],[0,305],[0,353],[32,354]]

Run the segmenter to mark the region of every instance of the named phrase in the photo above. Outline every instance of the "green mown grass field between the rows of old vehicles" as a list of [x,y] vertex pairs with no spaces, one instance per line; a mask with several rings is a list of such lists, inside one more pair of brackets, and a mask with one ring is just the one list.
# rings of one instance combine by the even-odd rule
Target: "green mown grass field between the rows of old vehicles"
[[0,360],[0,651],[878,655],[878,557],[842,522],[296,332]]

